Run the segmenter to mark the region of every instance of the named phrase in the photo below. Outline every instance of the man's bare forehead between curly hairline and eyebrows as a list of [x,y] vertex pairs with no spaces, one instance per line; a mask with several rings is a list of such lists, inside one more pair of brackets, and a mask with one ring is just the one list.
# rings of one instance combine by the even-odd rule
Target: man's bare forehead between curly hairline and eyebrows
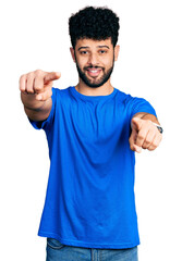
[[75,49],[78,50],[81,47],[87,47],[90,49],[99,48],[99,47],[108,47],[109,49],[112,47],[111,38],[106,40],[94,40],[94,39],[78,39],[76,40]]

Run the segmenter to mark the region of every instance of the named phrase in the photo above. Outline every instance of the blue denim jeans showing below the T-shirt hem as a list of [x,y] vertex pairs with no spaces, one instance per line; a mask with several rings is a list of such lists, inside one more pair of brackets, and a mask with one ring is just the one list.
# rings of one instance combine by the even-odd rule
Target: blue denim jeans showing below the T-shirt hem
[[137,261],[137,247],[129,249],[95,249],[65,246],[47,238],[46,261]]

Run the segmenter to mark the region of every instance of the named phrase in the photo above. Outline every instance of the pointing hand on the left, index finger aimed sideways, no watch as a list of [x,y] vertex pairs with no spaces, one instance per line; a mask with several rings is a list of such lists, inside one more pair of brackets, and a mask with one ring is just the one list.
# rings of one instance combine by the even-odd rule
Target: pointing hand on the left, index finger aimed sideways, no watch
[[52,95],[53,79],[59,79],[60,73],[47,73],[36,70],[20,78],[20,90],[25,95],[35,95],[36,100],[46,101]]

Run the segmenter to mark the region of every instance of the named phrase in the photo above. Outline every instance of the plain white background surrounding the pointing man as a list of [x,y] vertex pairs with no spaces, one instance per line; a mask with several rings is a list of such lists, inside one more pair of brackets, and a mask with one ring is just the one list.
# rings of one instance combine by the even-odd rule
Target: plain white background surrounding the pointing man
[[[19,78],[41,69],[62,73],[54,87],[77,83],[68,20],[85,5],[120,16],[120,58],[112,85],[147,99],[165,128],[154,151],[136,156],[139,261],[182,260],[182,7],[180,0],[7,0],[0,4],[0,259],[45,260],[37,236],[49,158],[46,136],[28,123]],[[2,258],[3,256],[3,258]]]

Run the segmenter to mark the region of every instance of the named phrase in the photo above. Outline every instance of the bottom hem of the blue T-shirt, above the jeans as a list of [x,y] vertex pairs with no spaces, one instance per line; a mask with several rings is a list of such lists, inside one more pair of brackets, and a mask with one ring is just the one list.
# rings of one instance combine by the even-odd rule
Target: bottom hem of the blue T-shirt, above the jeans
[[59,240],[61,244],[72,247],[82,247],[82,248],[98,248],[98,249],[125,249],[125,248],[133,248],[138,246],[141,243],[136,240],[135,243],[116,243],[116,244],[102,244],[102,243],[86,243],[81,240],[70,240],[63,239],[58,234],[54,233],[46,233],[46,232],[38,232],[38,236],[40,237],[50,237]]

